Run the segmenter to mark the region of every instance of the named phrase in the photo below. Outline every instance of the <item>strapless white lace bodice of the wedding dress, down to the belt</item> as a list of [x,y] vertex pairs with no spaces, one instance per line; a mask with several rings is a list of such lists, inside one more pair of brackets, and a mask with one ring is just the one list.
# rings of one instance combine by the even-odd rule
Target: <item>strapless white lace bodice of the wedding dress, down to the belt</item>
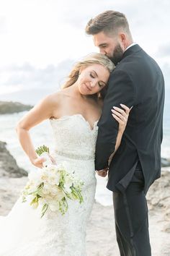
[[94,127],[81,114],[50,119],[55,140],[55,152],[59,155],[81,158],[94,158],[97,140],[97,121]]

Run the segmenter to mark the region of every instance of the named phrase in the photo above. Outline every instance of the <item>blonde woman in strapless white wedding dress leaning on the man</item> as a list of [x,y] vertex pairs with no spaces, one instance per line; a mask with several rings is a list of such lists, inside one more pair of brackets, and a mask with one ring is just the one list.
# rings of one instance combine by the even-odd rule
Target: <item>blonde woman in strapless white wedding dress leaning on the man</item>
[[[17,125],[19,142],[31,163],[42,168],[45,158],[35,153],[29,130],[50,119],[55,140],[55,152],[50,156],[56,163],[65,161],[67,169],[75,171],[84,182],[84,202],[69,200],[64,216],[50,210],[40,218],[27,202],[17,200],[8,216],[0,222],[1,256],[85,256],[86,223],[94,203],[96,179],[94,153],[97,121],[102,114],[103,89],[107,86],[114,64],[107,56],[90,54],[72,69],[63,90],[44,98]],[[119,122],[117,147],[128,119],[124,106],[112,113]],[[116,147],[116,148],[117,148]]]

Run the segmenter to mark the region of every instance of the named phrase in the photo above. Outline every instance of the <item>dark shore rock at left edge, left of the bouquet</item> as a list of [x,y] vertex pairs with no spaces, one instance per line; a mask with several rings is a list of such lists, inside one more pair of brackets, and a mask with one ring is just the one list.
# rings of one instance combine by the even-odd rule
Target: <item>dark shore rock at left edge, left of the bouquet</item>
[[0,177],[19,178],[27,176],[27,171],[17,166],[16,160],[6,149],[6,142],[0,142]]

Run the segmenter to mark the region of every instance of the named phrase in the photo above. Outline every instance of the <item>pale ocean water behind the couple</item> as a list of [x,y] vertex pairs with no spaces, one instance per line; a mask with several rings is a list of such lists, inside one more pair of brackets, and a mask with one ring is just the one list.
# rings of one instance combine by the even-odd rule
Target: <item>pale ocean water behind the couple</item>
[[[22,150],[15,127],[19,119],[26,114],[27,111],[0,115],[0,140],[7,143],[9,152],[14,156],[17,164],[30,172],[32,166],[27,155]],[[37,127],[33,127],[30,130],[32,141],[37,148],[40,145],[48,145],[53,150],[53,131],[50,126],[50,121],[43,121]],[[169,116],[169,104],[166,105],[164,111],[164,140],[162,142],[161,156],[163,158],[170,158],[170,116]],[[95,199],[102,205],[112,205],[112,192],[106,189],[107,178],[97,176],[97,192]]]

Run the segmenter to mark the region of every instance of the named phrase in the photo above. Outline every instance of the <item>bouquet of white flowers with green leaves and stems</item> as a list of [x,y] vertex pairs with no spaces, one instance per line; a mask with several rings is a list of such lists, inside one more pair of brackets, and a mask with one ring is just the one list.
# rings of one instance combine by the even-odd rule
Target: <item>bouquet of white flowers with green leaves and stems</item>
[[44,162],[43,168],[28,175],[29,181],[22,191],[22,202],[29,201],[33,208],[41,205],[41,218],[48,209],[65,214],[68,200],[83,202],[81,188],[84,182],[73,173],[68,173],[64,162],[53,164],[48,156],[49,149],[45,145],[37,148],[36,152],[48,160]]

